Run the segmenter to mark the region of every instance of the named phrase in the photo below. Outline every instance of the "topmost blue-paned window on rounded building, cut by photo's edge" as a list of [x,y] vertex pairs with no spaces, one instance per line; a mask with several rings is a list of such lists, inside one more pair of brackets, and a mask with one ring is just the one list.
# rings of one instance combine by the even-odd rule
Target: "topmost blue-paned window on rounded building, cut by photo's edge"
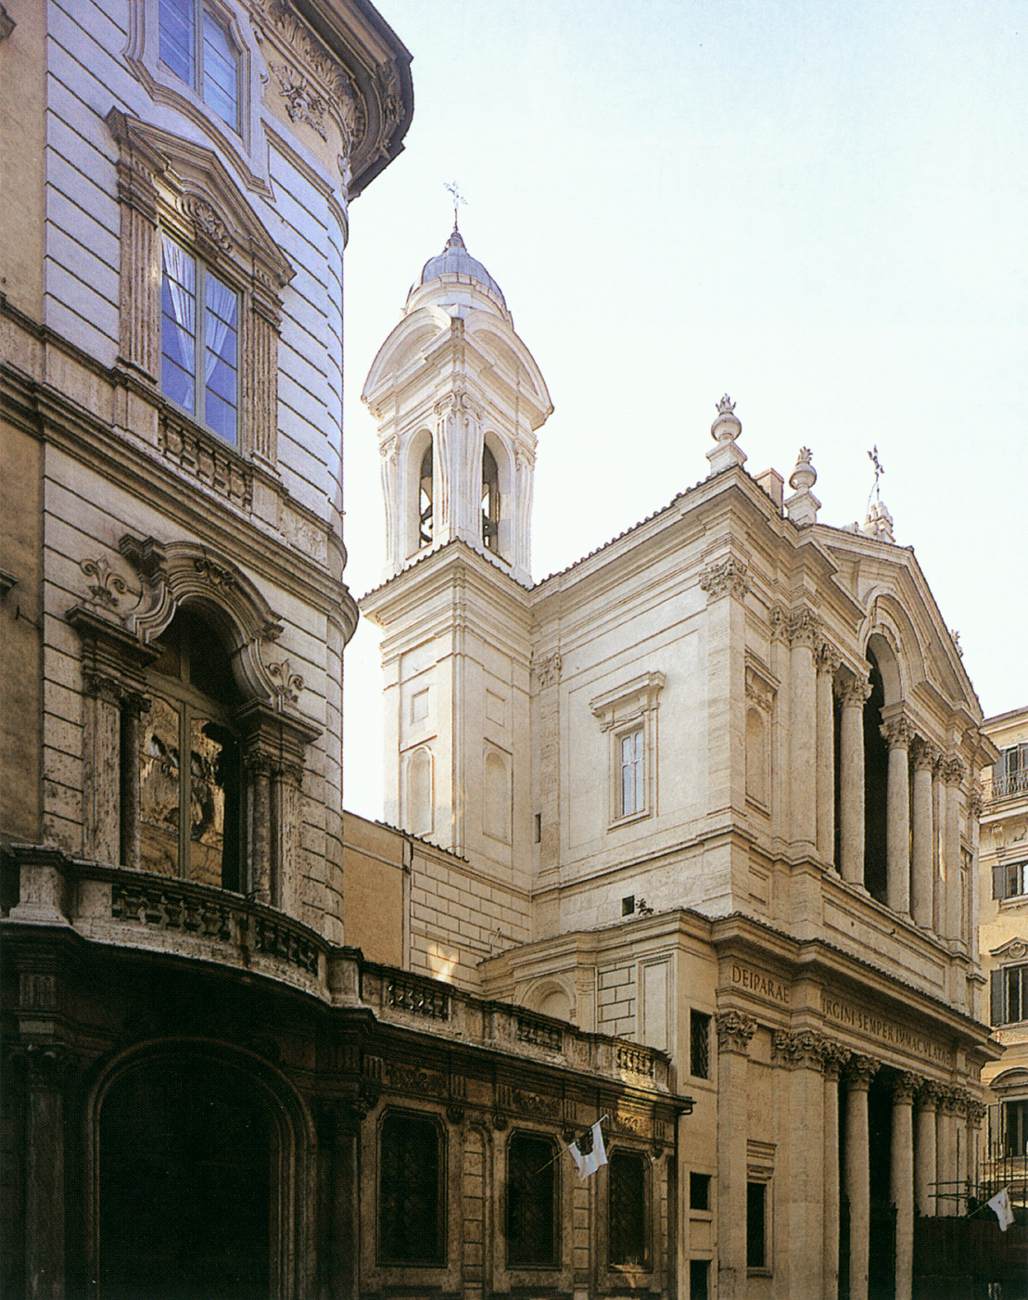
[[203,101],[239,130],[239,52],[200,0],[160,0],[160,57]]

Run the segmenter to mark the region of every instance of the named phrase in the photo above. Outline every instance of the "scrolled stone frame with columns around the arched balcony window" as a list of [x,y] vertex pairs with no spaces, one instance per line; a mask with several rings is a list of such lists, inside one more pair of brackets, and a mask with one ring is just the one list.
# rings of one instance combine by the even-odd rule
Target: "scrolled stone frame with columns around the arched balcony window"
[[[161,543],[125,534],[118,550],[129,578],[105,556],[82,560],[88,595],[66,614],[82,640],[84,688],[86,853],[99,862],[140,866],[140,731],[149,708],[147,670],[153,642],[178,608],[200,610],[221,634],[243,703],[233,720],[246,768],[247,892],[290,910],[302,854],[307,749],[321,731],[298,708],[303,679],[265,646],[282,623],[231,559],[199,542]],[[126,595],[135,603],[122,612]],[[118,779],[112,780],[110,774]]]

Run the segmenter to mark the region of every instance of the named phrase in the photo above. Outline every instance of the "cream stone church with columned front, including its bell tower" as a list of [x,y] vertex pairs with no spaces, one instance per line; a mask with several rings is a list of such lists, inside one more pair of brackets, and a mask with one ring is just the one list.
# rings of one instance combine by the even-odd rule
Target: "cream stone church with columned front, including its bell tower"
[[823,523],[807,448],[788,494],[749,473],[725,396],[706,477],[533,582],[550,395],[456,228],[364,399],[386,818],[459,859],[412,867],[412,968],[669,1054],[675,1294],[929,1294],[920,1227],[966,1208],[996,1056],[994,750],[888,510]]

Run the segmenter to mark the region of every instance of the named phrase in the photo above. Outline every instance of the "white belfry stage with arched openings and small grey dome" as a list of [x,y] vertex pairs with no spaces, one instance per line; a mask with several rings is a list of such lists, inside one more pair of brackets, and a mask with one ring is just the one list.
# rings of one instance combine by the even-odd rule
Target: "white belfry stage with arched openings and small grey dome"
[[552,404],[456,222],[411,286],[361,395],[378,421],[385,576],[460,538],[529,584],[535,430]]

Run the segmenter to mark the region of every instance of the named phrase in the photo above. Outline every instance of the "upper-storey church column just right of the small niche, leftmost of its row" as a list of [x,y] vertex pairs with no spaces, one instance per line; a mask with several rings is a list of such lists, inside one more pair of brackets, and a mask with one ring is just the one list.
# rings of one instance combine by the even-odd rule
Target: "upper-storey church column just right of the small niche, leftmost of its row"
[[797,610],[789,636],[789,837],[793,848],[814,852],[817,841],[817,675],[814,647],[820,621]]

